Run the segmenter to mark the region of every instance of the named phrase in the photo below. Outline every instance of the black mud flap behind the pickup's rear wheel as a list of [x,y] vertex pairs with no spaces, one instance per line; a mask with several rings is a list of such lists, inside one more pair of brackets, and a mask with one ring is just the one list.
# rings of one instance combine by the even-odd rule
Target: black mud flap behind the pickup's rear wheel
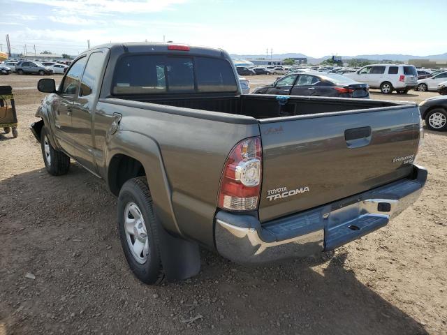
[[160,224],[159,238],[166,281],[182,281],[198,274],[200,253],[197,243],[171,235]]

